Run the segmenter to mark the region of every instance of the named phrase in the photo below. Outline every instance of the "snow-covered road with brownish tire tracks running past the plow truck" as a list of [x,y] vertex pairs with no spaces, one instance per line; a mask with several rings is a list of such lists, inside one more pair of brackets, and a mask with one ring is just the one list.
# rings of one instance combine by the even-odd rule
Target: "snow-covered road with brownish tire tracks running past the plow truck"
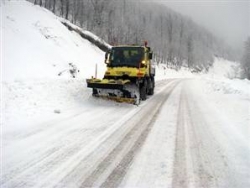
[[162,80],[139,107],[86,98],[6,132],[1,187],[250,187],[249,127],[240,131],[241,113],[230,119],[201,87]]

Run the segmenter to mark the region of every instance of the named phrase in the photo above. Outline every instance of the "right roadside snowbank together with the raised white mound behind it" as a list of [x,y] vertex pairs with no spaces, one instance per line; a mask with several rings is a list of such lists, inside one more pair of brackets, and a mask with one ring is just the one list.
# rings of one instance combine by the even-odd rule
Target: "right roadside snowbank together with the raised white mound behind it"
[[[250,138],[250,81],[240,80],[239,65],[221,58],[215,58],[207,75],[202,75],[197,84],[199,92],[211,101],[213,106],[226,117],[233,117],[238,131]],[[234,79],[233,79],[234,78]]]

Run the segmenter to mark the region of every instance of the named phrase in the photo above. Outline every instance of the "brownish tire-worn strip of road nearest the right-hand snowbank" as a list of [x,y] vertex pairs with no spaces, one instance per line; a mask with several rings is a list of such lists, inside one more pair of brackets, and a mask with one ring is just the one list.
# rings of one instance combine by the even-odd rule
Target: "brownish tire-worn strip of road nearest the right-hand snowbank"
[[[185,84],[185,83],[184,83]],[[192,96],[193,97],[193,96]],[[172,187],[220,187],[227,164],[209,124],[182,88],[177,120]]]

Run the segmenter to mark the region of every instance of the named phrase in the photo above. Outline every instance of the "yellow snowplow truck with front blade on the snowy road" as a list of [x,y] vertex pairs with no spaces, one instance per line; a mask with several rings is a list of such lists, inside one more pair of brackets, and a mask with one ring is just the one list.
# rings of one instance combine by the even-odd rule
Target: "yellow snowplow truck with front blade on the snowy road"
[[139,104],[154,94],[155,69],[152,51],[144,46],[114,46],[105,54],[107,70],[103,79],[87,79],[93,96]]

